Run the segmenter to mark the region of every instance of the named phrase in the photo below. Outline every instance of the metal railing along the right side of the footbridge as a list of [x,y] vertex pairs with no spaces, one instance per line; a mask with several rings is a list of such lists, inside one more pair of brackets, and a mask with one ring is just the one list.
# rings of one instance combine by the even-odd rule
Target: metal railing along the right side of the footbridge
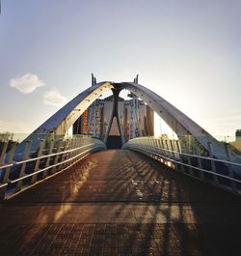
[[[129,140],[123,149],[150,156],[162,163],[204,182],[241,195],[241,163],[186,153],[180,141],[142,137]],[[229,153],[227,151],[227,159]]]

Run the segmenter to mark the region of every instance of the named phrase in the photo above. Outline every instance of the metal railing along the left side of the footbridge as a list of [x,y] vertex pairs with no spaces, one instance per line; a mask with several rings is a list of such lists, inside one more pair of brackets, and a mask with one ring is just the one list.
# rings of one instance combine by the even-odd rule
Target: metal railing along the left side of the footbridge
[[31,144],[31,140],[26,142],[21,157],[16,154],[16,143],[8,153],[8,142],[4,144],[0,153],[0,200],[67,169],[94,151],[106,149],[101,140],[90,137],[40,140],[37,152],[31,151]]

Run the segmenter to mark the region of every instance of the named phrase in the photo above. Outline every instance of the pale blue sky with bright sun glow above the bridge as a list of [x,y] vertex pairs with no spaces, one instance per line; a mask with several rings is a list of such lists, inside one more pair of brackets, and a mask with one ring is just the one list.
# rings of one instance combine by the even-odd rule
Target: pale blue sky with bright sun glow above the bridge
[[240,0],[2,0],[0,132],[97,81],[132,81],[213,135],[241,128]]

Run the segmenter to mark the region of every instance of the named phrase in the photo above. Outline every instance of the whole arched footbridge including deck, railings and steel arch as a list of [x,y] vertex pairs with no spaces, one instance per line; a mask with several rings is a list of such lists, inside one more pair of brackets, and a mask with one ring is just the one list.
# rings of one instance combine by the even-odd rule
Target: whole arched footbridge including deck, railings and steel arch
[[[119,109],[123,90],[131,97],[128,137]],[[113,106],[99,135],[96,105],[107,92]],[[140,100],[176,139],[144,134]],[[87,109],[87,134],[67,136]],[[120,149],[110,150],[114,122]],[[9,146],[0,155],[1,255],[237,255],[241,249],[241,157],[138,76],[97,83],[93,75],[90,88]]]

